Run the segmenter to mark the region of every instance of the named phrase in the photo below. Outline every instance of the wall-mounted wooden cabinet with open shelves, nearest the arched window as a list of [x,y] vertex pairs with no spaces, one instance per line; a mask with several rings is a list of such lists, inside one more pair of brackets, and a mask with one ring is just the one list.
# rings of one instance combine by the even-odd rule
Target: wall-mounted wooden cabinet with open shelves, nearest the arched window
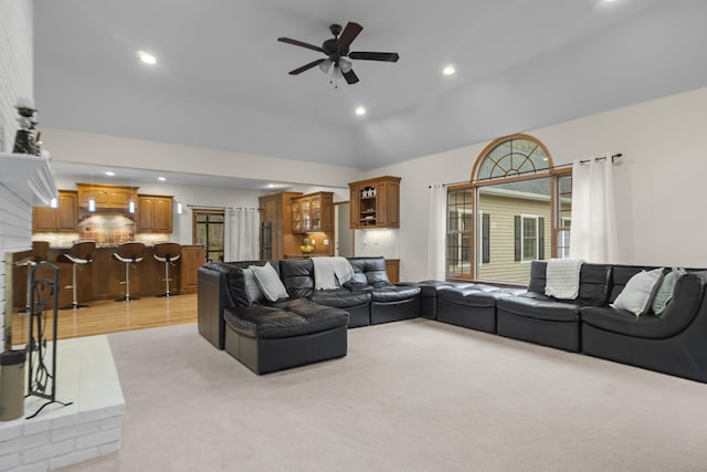
[[350,228],[400,228],[400,177],[378,177],[349,183]]

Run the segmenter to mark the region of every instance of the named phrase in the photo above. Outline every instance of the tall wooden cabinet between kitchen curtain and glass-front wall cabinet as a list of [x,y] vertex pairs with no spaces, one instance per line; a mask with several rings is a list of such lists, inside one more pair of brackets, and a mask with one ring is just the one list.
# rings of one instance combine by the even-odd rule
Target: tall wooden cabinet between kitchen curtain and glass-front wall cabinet
[[292,198],[300,195],[283,191],[260,197],[261,259],[284,259],[285,253],[299,252],[302,240],[292,231]]

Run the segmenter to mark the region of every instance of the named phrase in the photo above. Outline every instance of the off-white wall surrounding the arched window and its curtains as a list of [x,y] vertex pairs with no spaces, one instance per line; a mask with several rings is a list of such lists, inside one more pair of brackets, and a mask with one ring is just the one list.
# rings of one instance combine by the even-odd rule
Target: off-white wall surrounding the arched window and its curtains
[[[619,263],[707,268],[707,88],[532,130],[555,165],[623,153],[615,168]],[[428,186],[468,180],[488,143],[381,167],[402,177],[401,280],[425,275]]]

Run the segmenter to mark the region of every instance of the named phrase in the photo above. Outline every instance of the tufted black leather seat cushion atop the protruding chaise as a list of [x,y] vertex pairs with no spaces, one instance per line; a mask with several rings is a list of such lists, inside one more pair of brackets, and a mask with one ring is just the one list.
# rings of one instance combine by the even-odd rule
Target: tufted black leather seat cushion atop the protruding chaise
[[[320,333],[346,326],[348,314],[341,310],[328,308],[296,298],[285,303],[300,313],[274,306],[253,305],[225,308],[223,318],[234,332],[254,338],[284,338]],[[305,304],[300,303],[305,302]]]

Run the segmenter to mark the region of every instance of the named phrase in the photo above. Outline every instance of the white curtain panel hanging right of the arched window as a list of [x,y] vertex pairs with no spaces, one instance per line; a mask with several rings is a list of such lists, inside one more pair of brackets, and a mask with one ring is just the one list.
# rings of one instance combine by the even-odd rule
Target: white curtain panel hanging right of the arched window
[[616,262],[616,211],[613,162],[574,160],[570,258],[587,262]]

